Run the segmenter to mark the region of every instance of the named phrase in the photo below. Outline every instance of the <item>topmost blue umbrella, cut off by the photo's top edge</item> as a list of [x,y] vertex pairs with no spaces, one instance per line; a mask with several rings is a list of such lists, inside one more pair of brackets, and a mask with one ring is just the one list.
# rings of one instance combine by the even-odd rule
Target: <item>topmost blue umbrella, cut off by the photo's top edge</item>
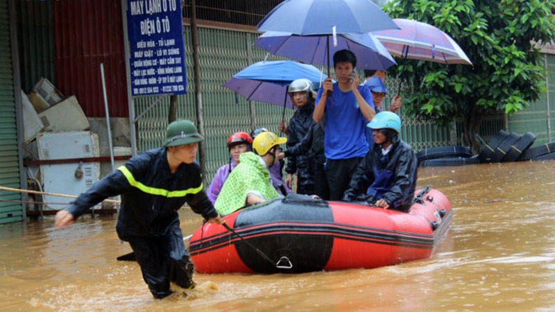
[[370,0],[287,0],[273,8],[257,25],[259,31],[282,31],[296,35],[369,33],[399,29]]

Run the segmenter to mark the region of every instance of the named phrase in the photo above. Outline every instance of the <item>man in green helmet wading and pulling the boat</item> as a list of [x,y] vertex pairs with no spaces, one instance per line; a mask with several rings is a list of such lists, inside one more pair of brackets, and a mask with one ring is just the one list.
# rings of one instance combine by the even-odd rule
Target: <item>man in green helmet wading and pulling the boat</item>
[[58,211],[56,227],[71,225],[89,207],[121,194],[117,234],[131,245],[153,296],[170,295],[170,281],[194,288],[194,266],[185,250],[178,210],[187,202],[207,222],[224,223],[203,191],[200,166],[194,161],[202,140],[191,121],[174,121],[164,148],[139,153],[96,182]]

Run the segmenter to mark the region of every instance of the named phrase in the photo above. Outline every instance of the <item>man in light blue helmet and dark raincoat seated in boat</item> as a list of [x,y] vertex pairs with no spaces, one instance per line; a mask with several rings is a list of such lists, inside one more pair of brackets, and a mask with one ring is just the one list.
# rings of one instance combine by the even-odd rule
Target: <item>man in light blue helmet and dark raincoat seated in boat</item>
[[411,146],[399,138],[401,119],[393,112],[379,112],[367,126],[373,130],[374,146],[357,167],[343,200],[408,212],[417,160]]

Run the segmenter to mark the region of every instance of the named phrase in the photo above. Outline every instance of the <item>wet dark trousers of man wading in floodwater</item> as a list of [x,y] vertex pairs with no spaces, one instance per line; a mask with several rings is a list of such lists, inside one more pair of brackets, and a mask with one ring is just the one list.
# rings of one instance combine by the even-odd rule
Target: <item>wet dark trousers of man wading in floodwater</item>
[[179,225],[160,237],[128,239],[152,295],[162,299],[171,295],[170,281],[182,288],[194,286],[194,265],[189,261]]

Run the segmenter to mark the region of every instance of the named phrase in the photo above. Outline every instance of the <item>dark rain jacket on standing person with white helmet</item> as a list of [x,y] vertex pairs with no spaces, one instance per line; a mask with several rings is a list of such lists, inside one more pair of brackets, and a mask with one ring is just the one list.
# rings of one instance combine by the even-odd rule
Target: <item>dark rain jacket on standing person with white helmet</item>
[[[287,135],[287,149],[292,148],[302,141],[302,138],[310,132],[312,124],[312,113],[314,112],[314,105],[307,103],[307,105],[299,107],[295,114],[289,120],[289,135]],[[311,150],[302,155],[290,156],[287,158],[287,167],[285,172],[298,176],[298,183],[301,185],[314,184],[312,180],[314,173],[314,159]]]

